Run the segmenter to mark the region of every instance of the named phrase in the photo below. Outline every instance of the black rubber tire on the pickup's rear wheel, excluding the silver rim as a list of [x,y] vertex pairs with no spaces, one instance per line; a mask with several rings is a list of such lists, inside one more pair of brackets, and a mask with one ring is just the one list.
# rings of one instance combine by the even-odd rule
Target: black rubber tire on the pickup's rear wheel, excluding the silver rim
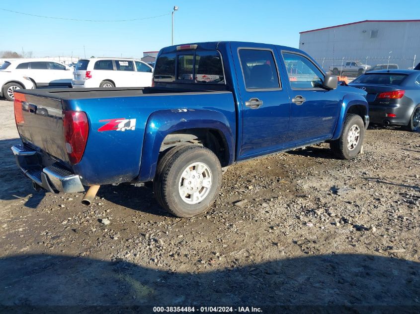
[[[185,180],[181,181],[184,170],[195,162],[208,167],[212,180],[205,197],[193,204],[182,199],[179,186]],[[192,217],[205,212],[218,196],[221,185],[222,168],[219,160],[211,150],[197,145],[180,145],[169,149],[159,161],[153,181],[157,201],[177,217]]]

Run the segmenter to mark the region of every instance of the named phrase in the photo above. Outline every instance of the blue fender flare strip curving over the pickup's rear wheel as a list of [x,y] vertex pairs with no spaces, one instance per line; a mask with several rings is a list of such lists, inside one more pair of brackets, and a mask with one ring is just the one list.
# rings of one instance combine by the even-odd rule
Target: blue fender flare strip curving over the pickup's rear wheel
[[235,151],[235,137],[231,127],[221,112],[213,110],[173,109],[153,113],[146,124],[138,181],[146,182],[154,178],[159,151],[165,136],[188,128],[221,131],[229,148],[229,164],[231,164],[234,161]]

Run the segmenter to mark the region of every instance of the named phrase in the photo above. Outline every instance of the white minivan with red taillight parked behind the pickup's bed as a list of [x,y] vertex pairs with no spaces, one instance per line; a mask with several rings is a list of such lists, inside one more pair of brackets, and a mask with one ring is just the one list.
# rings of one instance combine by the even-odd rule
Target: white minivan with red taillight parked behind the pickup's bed
[[152,72],[152,66],[136,59],[82,59],[75,67],[72,85],[74,88],[151,86]]

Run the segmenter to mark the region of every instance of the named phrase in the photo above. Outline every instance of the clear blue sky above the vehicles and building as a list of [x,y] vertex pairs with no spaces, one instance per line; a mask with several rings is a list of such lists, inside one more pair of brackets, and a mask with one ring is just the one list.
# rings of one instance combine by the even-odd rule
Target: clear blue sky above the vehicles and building
[[[14,0],[0,8],[73,19],[120,20],[175,13],[174,44],[236,40],[298,47],[299,32],[366,19],[416,19],[419,0]],[[170,14],[129,22],[56,20],[0,10],[0,51],[34,57],[141,57],[171,40]],[[12,35],[11,35],[12,34]],[[4,40],[7,38],[7,40]]]

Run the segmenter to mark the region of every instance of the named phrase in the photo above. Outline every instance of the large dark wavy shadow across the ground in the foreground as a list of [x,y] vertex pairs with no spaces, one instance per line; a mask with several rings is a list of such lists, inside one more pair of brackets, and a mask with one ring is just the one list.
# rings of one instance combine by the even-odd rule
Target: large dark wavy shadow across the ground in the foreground
[[376,255],[320,255],[201,273],[16,255],[0,259],[0,271],[3,307],[346,305],[405,306],[410,313],[420,306],[420,263]]

